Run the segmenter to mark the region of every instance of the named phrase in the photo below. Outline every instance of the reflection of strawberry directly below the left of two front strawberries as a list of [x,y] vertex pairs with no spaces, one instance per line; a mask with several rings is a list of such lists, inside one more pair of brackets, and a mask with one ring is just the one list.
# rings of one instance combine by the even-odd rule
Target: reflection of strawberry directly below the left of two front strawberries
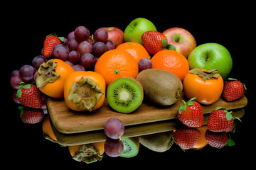
[[201,132],[196,128],[182,128],[174,132],[174,140],[181,149],[191,149],[198,142]]

